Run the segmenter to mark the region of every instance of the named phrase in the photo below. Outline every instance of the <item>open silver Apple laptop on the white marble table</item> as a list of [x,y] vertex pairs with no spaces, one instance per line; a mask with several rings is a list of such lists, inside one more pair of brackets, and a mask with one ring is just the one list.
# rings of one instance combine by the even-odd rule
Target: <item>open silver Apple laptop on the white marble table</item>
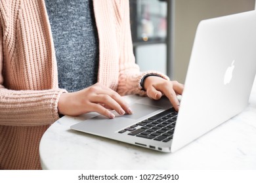
[[247,107],[256,73],[256,12],[198,25],[179,114],[167,98],[138,97],[134,114],[98,115],[71,128],[161,152],[175,152]]

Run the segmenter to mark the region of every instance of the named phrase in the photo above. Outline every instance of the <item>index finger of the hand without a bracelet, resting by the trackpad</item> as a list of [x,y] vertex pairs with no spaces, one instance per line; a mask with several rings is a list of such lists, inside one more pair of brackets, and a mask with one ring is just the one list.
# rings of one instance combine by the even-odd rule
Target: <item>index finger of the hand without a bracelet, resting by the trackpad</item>
[[104,86],[102,86],[102,90],[99,90],[97,92],[98,94],[105,94],[105,95],[109,95],[110,97],[112,97],[112,99],[114,99],[114,101],[116,101],[123,110],[125,110],[125,112],[127,114],[133,114],[133,111],[131,110],[131,108],[129,107],[129,105],[122,99],[122,97],[115,92],[114,90],[111,90],[110,88],[106,88]]

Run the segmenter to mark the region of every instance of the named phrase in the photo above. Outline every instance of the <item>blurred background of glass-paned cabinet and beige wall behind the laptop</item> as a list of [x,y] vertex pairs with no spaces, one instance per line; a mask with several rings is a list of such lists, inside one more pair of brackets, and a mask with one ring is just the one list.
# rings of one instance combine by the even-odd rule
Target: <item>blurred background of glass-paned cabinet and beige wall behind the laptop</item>
[[140,70],[160,71],[182,83],[200,20],[255,8],[255,0],[129,2],[133,51]]

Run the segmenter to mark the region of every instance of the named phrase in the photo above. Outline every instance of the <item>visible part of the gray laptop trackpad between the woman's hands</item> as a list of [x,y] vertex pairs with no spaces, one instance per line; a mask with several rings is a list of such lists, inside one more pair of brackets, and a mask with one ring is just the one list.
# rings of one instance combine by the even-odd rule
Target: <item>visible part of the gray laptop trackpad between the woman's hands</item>
[[131,109],[133,110],[133,114],[125,114],[122,117],[137,120],[161,108],[135,103],[131,105]]

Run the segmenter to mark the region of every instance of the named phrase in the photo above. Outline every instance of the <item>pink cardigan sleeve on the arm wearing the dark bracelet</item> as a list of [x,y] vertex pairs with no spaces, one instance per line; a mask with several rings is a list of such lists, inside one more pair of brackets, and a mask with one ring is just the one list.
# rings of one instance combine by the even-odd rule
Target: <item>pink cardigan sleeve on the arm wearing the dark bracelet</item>
[[129,17],[129,1],[116,1],[119,9],[120,25],[120,58],[119,58],[119,82],[117,92],[121,95],[139,94],[146,95],[142,90],[140,81],[144,76],[154,74],[169,80],[168,76],[157,71],[140,72],[139,65],[135,63],[133,55],[133,43],[131,39],[131,27]]

